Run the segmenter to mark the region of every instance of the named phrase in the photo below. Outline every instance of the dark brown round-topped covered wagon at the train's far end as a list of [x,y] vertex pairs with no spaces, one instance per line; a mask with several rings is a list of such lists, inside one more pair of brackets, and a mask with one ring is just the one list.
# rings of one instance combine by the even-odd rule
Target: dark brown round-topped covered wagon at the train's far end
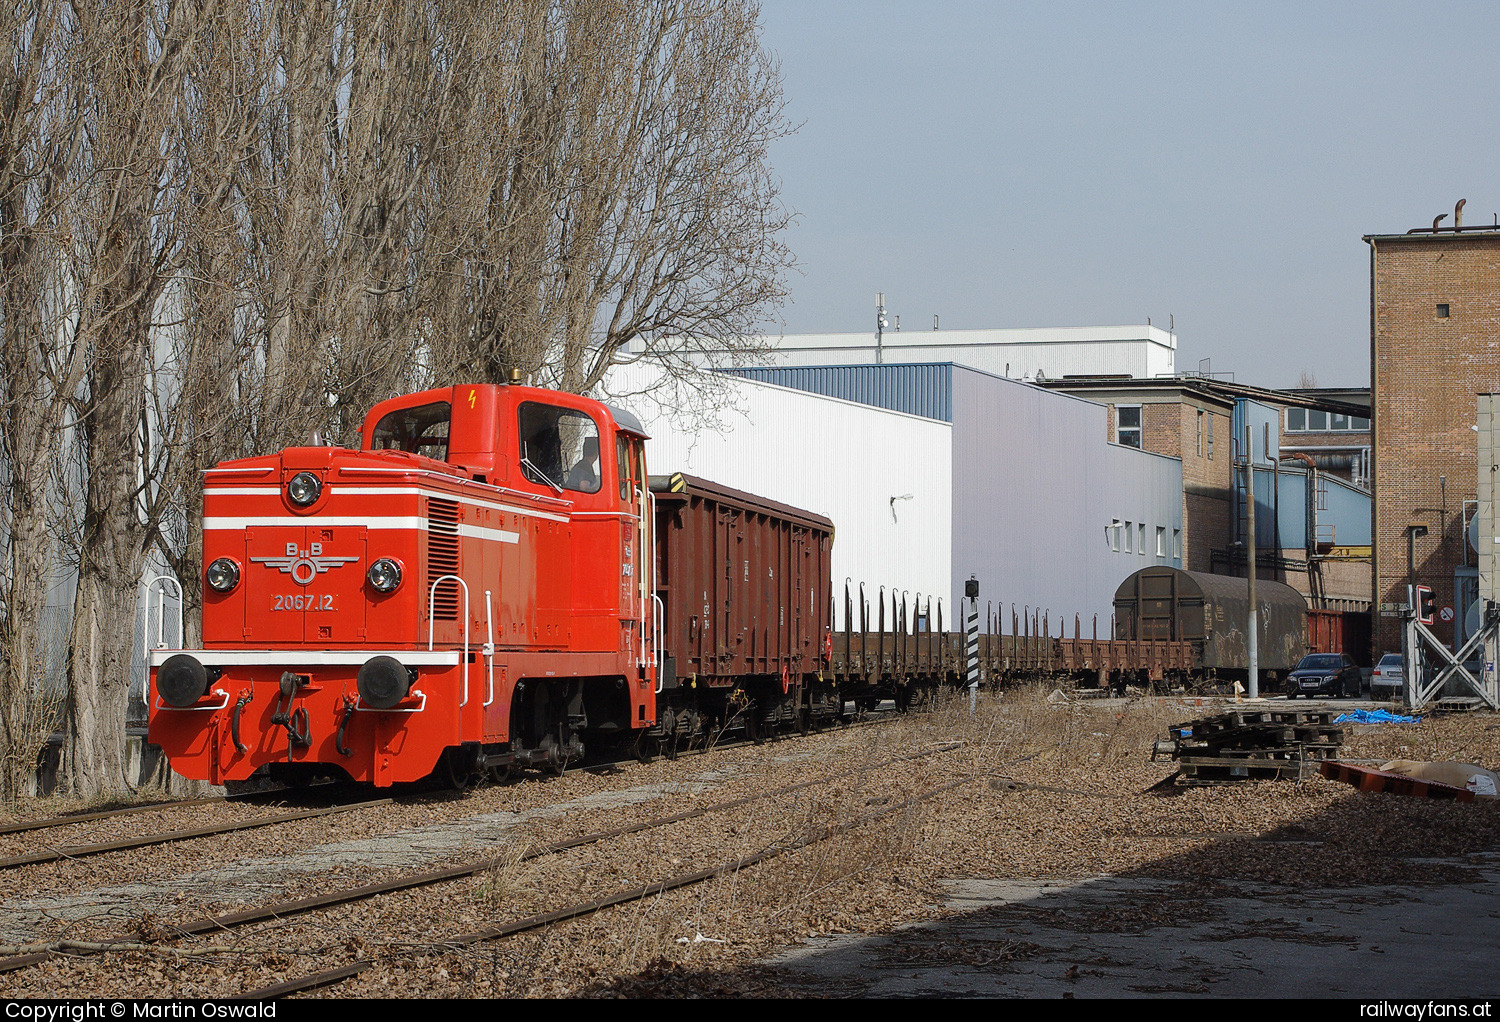
[[[1308,605],[1290,585],[1256,581],[1262,671],[1292,671],[1308,650]],[[1250,669],[1250,579],[1143,567],[1114,591],[1114,638],[1192,644],[1204,672]]]

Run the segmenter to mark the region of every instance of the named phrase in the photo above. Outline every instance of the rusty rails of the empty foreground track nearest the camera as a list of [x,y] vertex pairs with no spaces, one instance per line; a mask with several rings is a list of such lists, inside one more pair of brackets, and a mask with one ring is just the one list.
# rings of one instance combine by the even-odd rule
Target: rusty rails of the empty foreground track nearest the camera
[[[570,849],[578,849],[578,848],[584,848],[584,846],[588,846],[588,845],[602,845],[602,843],[608,843],[610,840],[621,839],[621,837],[626,837],[626,836],[630,836],[630,834],[640,834],[640,833],[646,833],[646,831],[651,831],[651,830],[658,830],[658,828],[666,828],[666,827],[672,827],[672,825],[676,825],[676,824],[684,824],[684,822],[688,822],[688,821],[693,821],[693,819],[698,819],[698,818],[702,818],[702,816],[708,816],[708,815],[712,815],[712,813],[734,812],[736,809],[748,807],[748,806],[753,806],[753,804],[760,803],[764,800],[784,798],[788,795],[792,795],[792,794],[796,794],[796,792],[801,792],[801,791],[806,791],[806,789],[810,789],[810,788],[816,788],[816,786],[820,786],[820,785],[828,785],[828,783],[831,783],[834,780],[838,780],[840,777],[850,777],[850,776],[861,774],[861,773],[870,773],[870,771],[888,768],[888,767],[891,767],[894,764],[898,764],[898,762],[903,762],[903,761],[920,759],[920,758],[926,758],[926,756],[932,756],[932,755],[952,752],[952,750],[956,750],[958,747],[962,747],[962,743],[944,744],[944,746],[939,746],[939,747],[934,747],[934,749],[924,750],[921,753],[908,755],[908,756],[898,756],[898,758],[886,759],[886,761],[879,762],[879,764],[868,764],[868,765],[862,765],[862,767],[858,767],[858,768],[854,768],[854,770],[846,770],[846,771],[834,773],[834,774],[825,774],[825,776],[819,776],[816,779],[798,782],[798,783],[794,783],[794,785],[783,785],[780,788],[776,788],[776,789],[771,789],[771,791],[765,791],[765,792],[756,792],[756,794],[752,794],[752,795],[730,798],[730,800],[712,803],[712,804],[708,804],[708,806],[693,807],[693,809],[682,810],[682,812],[678,812],[678,813],[669,813],[669,815],[663,815],[663,816],[656,816],[656,818],[651,818],[651,819],[646,819],[646,821],[639,821],[639,822],[627,824],[627,825],[622,825],[622,827],[615,827],[615,828],[592,831],[592,833],[588,833],[588,834],[580,834],[580,836],[576,836],[576,837],[572,837],[572,839],[566,839],[566,840],[560,840],[560,842],[552,842],[552,843],[534,848],[530,852],[526,852],[522,857],[520,861],[536,861],[536,860],[540,860],[540,858],[544,858],[544,857],[549,857],[549,855],[556,855],[560,852],[566,852],[566,851],[570,851]],[[896,807],[888,806],[882,812],[873,813],[870,818],[872,819],[879,818],[880,815],[885,815],[886,812],[892,812],[894,809]],[[844,827],[842,830],[848,830],[848,827]],[[842,833],[842,830],[836,830],[832,833]],[[616,891],[616,893],[604,896],[604,897],[596,897],[596,899],[591,899],[591,900],[585,902],[584,905],[585,906],[591,906],[591,908],[588,908],[588,911],[600,911],[602,908],[606,908],[608,905],[615,905],[615,903],[621,903],[622,900],[630,900],[632,896],[639,897],[639,896],[642,896],[640,894],[642,890],[646,890],[646,893],[650,893],[648,888],[651,888],[651,890],[672,890],[675,887],[680,887],[680,885],[684,885],[684,884],[688,884],[688,882],[702,882],[704,879],[708,879],[711,876],[722,875],[723,870],[726,870],[726,869],[742,869],[742,867],[756,864],[759,861],[764,861],[765,858],[770,858],[770,857],[784,855],[789,851],[794,851],[795,848],[804,846],[806,843],[808,843],[808,840],[813,840],[813,839],[822,840],[822,839],[826,839],[828,836],[831,836],[831,833],[825,834],[822,837],[812,836],[812,837],[804,839],[804,840],[778,842],[778,843],[776,843],[776,845],[772,845],[772,846],[770,846],[766,849],[764,849],[762,852],[759,852],[756,855],[738,857],[738,858],[735,858],[732,861],[722,863],[717,867],[711,867],[708,870],[699,870],[698,873],[687,873],[687,875],[682,875],[682,876],[674,876],[674,878],[669,878],[666,881],[657,881],[656,884],[648,884],[646,887],[633,887],[633,888],[628,888],[628,890]],[[158,939],[154,939],[154,941],[146,941],[146,942],[142,942],[140,939],[140,936],[135,936],[135,938],[105,939],[105,941],[52,941],[52,942],[46,942],[46,944],[39,944],[39,945],[3,948],[3,953],[9,953],[10,957],[0,959],[0,972],[10,972],[10,971],[16,971],[16,969],[34,966],[34,965],[52,960],[58,954],[90,956],[90,954],[99,954],[99,953],[106,953],[106,951],[150,950],[153,947],[170,945],[170,942],[180,941],[183,938],[202,936],[202,935],[210,935],[210,933],[226,933],[230,930],[236,930],[236,929],[246,927],[246,926],[254,926],[256,923],[267,923],[267,921],[272,921],[272,920],[286,920],[286,918],[290,918],[292,915],[315,912],[315,911],[320,911],[320,909],[328,909],[328,908],[333,908],[333,906],[338,906],[338,905],[346,905],[346,903],[351,903],[351,902],[369,900],[369,899],[375,899],[375,897],[378,897],[381,894],[392,894],[392,893],[402,891],[402,890],[410,890],[410,888],[414,888],[414,887],[435,885],[435,884],[442,884],[442,882],[450,882],[450,881],[462,879],[465,876],[474,876],[477,873],[483,873],[486,870],[496,869],[496,866],[501,864],[501,861],[504,861],[504,857],[500,857],[500,858],[489,857],[489,858],[484,858],[484,860],[480,860],[480,861],[465,863],[462,866],[454,866],[454,867],[448,867],[448,869],[435,869],[435,870],[426,870],[426,872],[417,872],[417,873],[406,873],[406,875],[396,876],[396,878],[392,878],[392,879],[382,881],[382,882],[374,882],[374,884],[368,884],[368,885],[362,885],[362,887],[351,887],[351,888],[338,890],[338,891],[327,891],[327,893],[322,893],[322,894],[316,894],[316,896],[310,896],[310,897],[303,897],[303,899],[296,899],[296,900],[276,902],[276,903],[272,903],[272,905],[262,905],[262,906],[258,906],[258,908],[254,908],[254,909],[240,911],[240,912],[219,914],[219,915],[206,917],[206,918],[192,920],[192,921],[178,923],[178,924],[158,923],[159,935],[158,935]],[[636,891],[636,893],[632,894],[632,891]],[[492,929],[495,929],[495,933],[492,933],[490,936],[504,936],[504,935],[514,933],[514,932],[524,932],[526,929],[536,929],[537,926],[546,926],[546,924],[550,924],[550,923],[556,923],[556,921],[561,921],[564,918],[573,918],[573,917],[579,915],[580,911],[584,911],[584,909],[580,909],[579,905],[570,905],[570,906],[566,906],[562,909],[543,912],[540,915],[532,915],[532,917],[528,917],[526,920],[520,920],[520,921],[516,921],[516,923],[501,924],[498,929],[488,927],[486,930],[478,932],[477,935],[458,935],[456,939],[459,939],[460,942],[464,939],[470,939],[470,936],[472,936],[472,939],[486,939],[484,935],[489,933]],[[518,926],[519,926],[519,929],[518,929]],[[345,968],[348,968],[348,966],[345,966]],[[368,968],[369,968],[369,965],[360,965],[358,969],[356,969],[354,972],[348,972],[348,975],[356,975],[360,971],[364,971]],[[309,981],[310,986],[321,986],[321,984],[327,984],[328,981],[333,981],[333,980],[330,980],[328,977],[321,977],[320,975],[316,980],[309,978],[308,981]],[[300,987],[300,989],[308,989],[308,987]]]

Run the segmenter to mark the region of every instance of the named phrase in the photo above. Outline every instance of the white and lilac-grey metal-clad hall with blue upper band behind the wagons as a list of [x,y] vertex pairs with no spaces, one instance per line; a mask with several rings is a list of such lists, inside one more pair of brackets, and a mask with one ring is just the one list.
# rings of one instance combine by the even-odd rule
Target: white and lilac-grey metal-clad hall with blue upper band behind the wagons
[[1006,630],[1014,605],[1053,635],[1074,615],[1090,635],[1098,615],[1107,636],[1120,581],[1182,564],[1182,462],[1108,443],[1102,405],[952,363],[750,372],[780,378],[729,377],[717,426],[662,407],[654,369],[622,368],[609,390],[651,434],[651,473],[831,518],[834,579],[872,603],[882,585],[944,596],[951,624],[976,576]]

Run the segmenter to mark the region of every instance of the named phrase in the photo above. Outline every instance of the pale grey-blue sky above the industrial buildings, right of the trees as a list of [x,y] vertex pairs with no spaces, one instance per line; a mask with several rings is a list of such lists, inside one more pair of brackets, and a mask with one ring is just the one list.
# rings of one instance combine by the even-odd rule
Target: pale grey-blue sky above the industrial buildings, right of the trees
[[764,0],[789,333],[1176,318],[1178,368],[1370,383],[1364,234],[1500,212],[1500,5]]

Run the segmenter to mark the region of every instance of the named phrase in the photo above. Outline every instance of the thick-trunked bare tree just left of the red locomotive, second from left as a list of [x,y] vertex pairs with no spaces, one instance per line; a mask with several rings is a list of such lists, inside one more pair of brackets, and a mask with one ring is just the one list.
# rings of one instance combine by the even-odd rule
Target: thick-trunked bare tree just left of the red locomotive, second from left
[[194,26],[212,3],[74,3],[87,93],[69,222],[76,590],[68,644],[68,776],[94,795],[124,780],[136,588],[152,531],[146,389],[159,303],[177,252],[168,159]]

